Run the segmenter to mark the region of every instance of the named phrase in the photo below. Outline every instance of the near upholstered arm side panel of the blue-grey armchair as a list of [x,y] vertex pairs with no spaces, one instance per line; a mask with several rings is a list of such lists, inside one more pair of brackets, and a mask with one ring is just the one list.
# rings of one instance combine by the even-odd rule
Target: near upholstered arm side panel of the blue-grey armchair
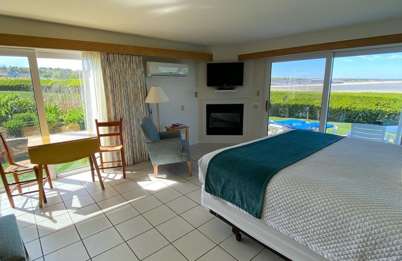
[[182,161],[181,138],[165,139],[146,143],[152,165]]

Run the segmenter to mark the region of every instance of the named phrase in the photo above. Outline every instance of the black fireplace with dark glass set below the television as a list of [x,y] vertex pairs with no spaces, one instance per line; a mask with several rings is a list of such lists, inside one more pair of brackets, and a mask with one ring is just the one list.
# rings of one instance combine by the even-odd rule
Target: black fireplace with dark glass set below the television
[[207,135],[243,135],[244,104],[207,104]]

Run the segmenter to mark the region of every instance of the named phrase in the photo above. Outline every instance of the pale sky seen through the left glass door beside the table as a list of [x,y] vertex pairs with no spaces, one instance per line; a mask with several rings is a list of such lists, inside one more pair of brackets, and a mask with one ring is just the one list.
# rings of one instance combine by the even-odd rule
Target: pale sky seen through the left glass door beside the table
[[[51,59],[51,58],[37,58],[39,67],[51,68],[64,68],[72,70],[82,70],[81,60],[72,59]],[[29,67],[28,57],[20,56],[0,56],[0,65]]]

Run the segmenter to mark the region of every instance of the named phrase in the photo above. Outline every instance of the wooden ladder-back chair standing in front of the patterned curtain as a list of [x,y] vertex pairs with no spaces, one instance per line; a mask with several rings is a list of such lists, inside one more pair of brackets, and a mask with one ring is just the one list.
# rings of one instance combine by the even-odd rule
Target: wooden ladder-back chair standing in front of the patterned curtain
[[[126,178],[126,165],[124,162],[124,147],[123,147],[123,133],[122,133],[122,127],[123,127],[123,118],[120,118],[118,121],[108,121],[108,122],[98,122],[97,119],[95,119],[95,125],[96,125],[96,133],[97,133],[97,138],[99,141],[99,157],[96,159],[99,159],[100,165],[99,165],[99,170],[105,169],[114,169],[114,168],[122,168],[123,171],[123,178]],[[108,127],[109,131],[111,127],[114,128],[112,132],[109,132],[107,134],[100,134],[99,129],[101,127]],[[117,129],[117,130],[116,130]],[[104,146],[100,142],[102,137],[114,137],[118,136],[119,141],[117,142],[116,145],[108,145]],[[112,139],[111,139],[112,140]],[[102,154],[103,153],[111,153],[111,152],[120,152],[120,160],[119,161],[107,161],[105,162],[103,159]],[[95,181],[95,172],[93,169],[93,162],[90,158],[89,159],[89,165],[91,168],[91,174],[92,174],[92,181]],[[120,162],[121,166],[111,166],[111,167],[105,167],[105,164],[108,163],[115,163],[115,162]]]

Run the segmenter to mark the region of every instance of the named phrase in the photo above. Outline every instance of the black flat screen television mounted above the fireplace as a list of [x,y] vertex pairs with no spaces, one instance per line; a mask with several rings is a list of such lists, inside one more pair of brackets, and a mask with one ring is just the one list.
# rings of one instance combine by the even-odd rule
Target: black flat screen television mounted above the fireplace
[[243,86],[244,63],[207,63],[207,86]]

